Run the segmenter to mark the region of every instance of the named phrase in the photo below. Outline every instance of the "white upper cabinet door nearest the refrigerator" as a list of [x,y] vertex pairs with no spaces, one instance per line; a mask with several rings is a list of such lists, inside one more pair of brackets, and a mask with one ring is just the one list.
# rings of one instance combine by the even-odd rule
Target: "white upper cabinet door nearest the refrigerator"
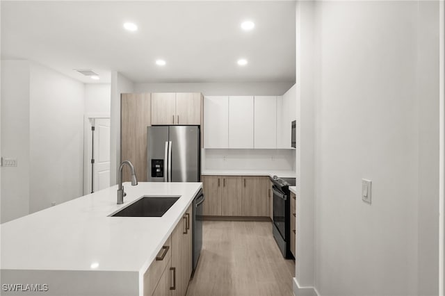
[[229,97],[204,97],[204,148],[229,148]]

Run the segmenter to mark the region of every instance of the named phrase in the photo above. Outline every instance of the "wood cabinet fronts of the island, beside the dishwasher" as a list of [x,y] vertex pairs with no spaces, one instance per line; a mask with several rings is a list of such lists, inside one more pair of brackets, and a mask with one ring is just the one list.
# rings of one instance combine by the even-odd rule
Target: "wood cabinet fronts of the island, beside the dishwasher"
[[184,296],[193,263],[192,206],[176,225],[144,274],[144,296]]

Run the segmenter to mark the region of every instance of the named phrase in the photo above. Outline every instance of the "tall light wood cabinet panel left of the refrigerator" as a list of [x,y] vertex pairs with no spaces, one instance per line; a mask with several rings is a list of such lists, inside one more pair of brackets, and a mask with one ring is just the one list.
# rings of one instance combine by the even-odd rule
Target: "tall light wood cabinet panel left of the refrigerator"
[[[150,125],[150,94],[122,94],[120,117],[120,159],[131,161],[138,181],[147,181],[147,126]],[[130,181],[124,167],[122,180]]]

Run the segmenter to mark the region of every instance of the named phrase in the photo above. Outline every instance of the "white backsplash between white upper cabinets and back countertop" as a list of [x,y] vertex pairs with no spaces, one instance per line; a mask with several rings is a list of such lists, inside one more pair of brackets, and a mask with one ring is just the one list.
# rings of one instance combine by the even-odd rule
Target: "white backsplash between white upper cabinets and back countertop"
[[295,170],[291,149],[204,149],[203,170]]

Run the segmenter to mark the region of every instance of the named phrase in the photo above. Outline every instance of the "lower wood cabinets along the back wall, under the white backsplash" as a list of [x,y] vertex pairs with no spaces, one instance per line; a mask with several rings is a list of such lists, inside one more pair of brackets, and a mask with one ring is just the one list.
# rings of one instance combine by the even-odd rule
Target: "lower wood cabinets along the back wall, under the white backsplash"
[[202,176],[204,215],[270,217],[268,176]]

